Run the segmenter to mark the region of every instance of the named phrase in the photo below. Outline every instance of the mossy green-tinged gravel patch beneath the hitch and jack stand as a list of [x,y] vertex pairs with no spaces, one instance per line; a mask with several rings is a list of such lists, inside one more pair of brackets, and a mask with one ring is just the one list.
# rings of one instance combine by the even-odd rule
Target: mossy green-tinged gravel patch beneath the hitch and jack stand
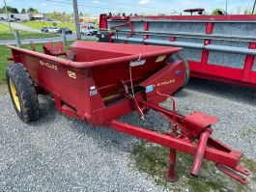
[[[203,161],[202,169],[198,178],[189,175],[193,162],[191,155],[179,152],[176,164],[176,171],[179,180],[175,183],[166,181],[163,174],[168,170],[169,150],[156,144],[141,142],[137,144],[132,152],[136,167],[151,175],[156,184],[163,186],[170,191],[252,191],[250,185],[242,185],[236,180],[229,178],[219,172],[213,162]],[[252,173],[249,182],[256,184],[256,163],[251,159],[244,158],[244,164]]]

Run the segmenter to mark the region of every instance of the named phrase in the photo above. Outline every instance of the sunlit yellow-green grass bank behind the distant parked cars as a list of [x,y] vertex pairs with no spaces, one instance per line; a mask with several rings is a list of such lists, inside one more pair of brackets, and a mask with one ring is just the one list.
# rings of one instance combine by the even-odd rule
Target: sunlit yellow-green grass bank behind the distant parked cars
[[[42,27],[52,27],[52,23],[52,21],[25,21],[22,22],[21,24],[31,27],[33,29],[41,29]],[[56,21],[56,23],[58,28],[69,27],[73,32],[75,31],[74,23],[64,23],[59,21]]]

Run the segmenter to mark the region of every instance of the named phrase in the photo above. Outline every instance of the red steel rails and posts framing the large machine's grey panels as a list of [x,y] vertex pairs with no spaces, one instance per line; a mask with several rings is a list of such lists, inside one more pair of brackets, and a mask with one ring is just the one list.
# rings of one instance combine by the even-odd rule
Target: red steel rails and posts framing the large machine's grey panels
[[[106,14],[100,14],[100,28],[107,29],[107,20],[132,20],[132,19],[172,19],[172,20],[204,20],[209,21],[207,23],[206,34],[213,33],[214,22],[213,21],[255,21],[256,15],[171,15],[171,16],[131,16],[120,17],[112,16],[108,17]],[[145,21],[145,31],[149,30],[149,22]],[[113,34],[112,34],[113,35]],[[148,39],[148,36],[145,36]],[[110,40],[113,42],[112,40]],[[174,37],[170,37],[170,41],[176,41]],[[211,44],[211,40],[205,40],[205,44]],[[146,44],[146,43],[144,43]],[[256,42],[251,41],[248,48],[256,49]],[[220,81],[225,83],[231,83],[241,86],[256,87],[256,71],[252,71],[252,65],[255,60],[255,56],[246,55],[243,69],[233,69],[222,66],[215,66],[208,63],[209,51],[205,48],[202,51],[202,57],[200,62],[188,61],[190,67],[190,75],[192,77],[199,77],[214,81]]]

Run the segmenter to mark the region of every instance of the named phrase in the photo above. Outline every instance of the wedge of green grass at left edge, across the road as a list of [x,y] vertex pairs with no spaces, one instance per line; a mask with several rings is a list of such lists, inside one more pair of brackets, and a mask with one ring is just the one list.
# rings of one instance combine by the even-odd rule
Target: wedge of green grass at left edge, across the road
[[[18,33],[21,40],[33,38],[51,38],[59,36],[57,34],[33,33],[26,31],[18,31]],[[0,23],[0,40],[14,40],[14,34],[10,34],[9,26],[4,23]]]

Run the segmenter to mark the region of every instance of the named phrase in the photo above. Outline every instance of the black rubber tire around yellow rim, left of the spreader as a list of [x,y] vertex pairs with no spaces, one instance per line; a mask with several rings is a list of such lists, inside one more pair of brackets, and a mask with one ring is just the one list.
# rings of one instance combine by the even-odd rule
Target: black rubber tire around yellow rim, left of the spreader
[[[19,119],[24,123],[37,121],[39,119],[39,100],[28,71],[20,64],[10,65],[6,69],[6,79],[14,109]],[[14,102],[10,79],[19,100],[20,110]]]

